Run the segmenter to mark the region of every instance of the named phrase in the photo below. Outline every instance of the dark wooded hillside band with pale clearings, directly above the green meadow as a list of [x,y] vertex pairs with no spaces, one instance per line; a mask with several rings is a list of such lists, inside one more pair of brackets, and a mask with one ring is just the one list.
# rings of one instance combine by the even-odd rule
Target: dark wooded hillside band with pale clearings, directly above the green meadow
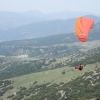
[[0,59],[0,79],[13,78],[16,76],[26,75],[30,73],[52,70],[64,67],[66,65],[73,67],[79,65],[80,63],[82,63],[84,66],[87,64],[93,64],[96,62],[100,62],[99,51],[100,47],[80,54],[75,54],[75,52],[73,51],[74,55],[71,55],[71,53],[70,56],[60,59],[42,58],[34,60],[31,58],[22,58],[21,60],[21,58],[13,59],[10,57],[3,57],[2,59]]

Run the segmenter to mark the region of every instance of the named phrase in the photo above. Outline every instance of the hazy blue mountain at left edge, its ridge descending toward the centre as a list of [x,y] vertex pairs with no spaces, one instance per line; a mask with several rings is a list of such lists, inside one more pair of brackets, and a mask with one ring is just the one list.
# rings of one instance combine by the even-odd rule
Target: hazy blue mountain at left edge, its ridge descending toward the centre
[[45,19],[25,16],[15,12],[0,11],[0,30],[7,30],[43,20]]

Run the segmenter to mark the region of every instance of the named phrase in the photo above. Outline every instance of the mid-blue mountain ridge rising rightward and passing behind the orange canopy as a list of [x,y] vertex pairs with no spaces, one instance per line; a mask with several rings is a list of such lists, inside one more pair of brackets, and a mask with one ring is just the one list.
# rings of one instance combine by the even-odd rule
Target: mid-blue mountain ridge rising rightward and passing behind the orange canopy
[[[93,18],[95,23],[100,21],[100,17],[97,16],[87,15],[86,17]],[[5,31],[1,30],[0,41],[32,39],[64,33],[75,33],[75,21],[76,18],[42,21]]]

